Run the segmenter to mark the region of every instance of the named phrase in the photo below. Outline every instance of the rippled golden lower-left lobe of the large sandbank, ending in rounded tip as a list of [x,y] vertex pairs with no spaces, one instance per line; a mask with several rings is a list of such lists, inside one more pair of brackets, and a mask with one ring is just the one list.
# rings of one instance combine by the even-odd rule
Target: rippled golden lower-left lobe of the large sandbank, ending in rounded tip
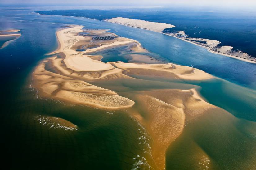
[[134,104],[114,91],[47,71],[47,62],[49,60],[43,61],[34,71],[34,86],[39,89],[41,96],[110,109],[131,107]]

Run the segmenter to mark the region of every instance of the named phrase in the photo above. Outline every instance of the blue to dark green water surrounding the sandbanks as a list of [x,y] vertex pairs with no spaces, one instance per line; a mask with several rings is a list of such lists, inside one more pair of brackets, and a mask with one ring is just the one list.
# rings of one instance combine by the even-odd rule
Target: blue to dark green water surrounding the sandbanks
[[[30,87],[31,73],[47,53],[57,48],[55,32],[66,24],[111,29],[119,36],[138,40],[168,62],[193,65],[217,77],[210,81],[152,81],[152,77],[140,77],[140,81],[95,83],[124,96],[143,89],[196,88],[209,103],[227,111],[205,114],[189,122],[168,148],[166,169],[205,169],[208,159],[210,169],[256,169],[255,64],[209,53],[157,32],[93,19],[31,13],[37,10],[0,9],[0,30],[16,28],[22,34],[0,49],[1,142],[10,169],[132,169],[139,165],[141,157],[150,162],[150,156],[144,153],[147,147],[138,145],[138,129],[142,127],[125,110],[113,112],[41,99]],[[108,61],[120,57],[115,51],[107,55]],[[123,88],[116,88],[117,84]],[[78,130],[41,125],[38,116],[61,117],[77,125]],[[146,163],[139,166],[148,168]]]

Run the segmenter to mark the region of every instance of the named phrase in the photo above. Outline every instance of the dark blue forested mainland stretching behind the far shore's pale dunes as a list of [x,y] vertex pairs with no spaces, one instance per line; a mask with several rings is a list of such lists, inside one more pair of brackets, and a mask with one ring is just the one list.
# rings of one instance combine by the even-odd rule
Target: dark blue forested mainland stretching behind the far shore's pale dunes
[[[239,25],[232,23],[236,19],[230,12],[223,18],[222,13],[209,13],[207,11],[183,11],[173,12],[169,10],[54,10],[35,11],[44,15],[77,16],[97,20],[106,19],[134,19],[142,22],[173,24],[175,27],[164,28],[159,32],[177,34],[174,36],[190,40],[201,46],[209,46],[212,51],[227,56],[235,56],[237,59],[247,59],[256,62],[256,41],[252,17],[245,18]],[[209,14],[209,15],[208,15]],[[218,22],[216,21],[218,18]],[[231,19],[231,20],[230,20]],[[143,23],[145,23],[143,22]],[[125,24],[124,24],[125,25]],[[147,24],[146,24],[147,25]],[[242,27],[244,25],[244,27]],[[140,26],[135,26],[141,28]],[[145,28],[142,26],[142,28]],[[183,32],[184,34],[179,34]],[[206,41],[205,41],[206,40]],[[218,41],[214,47],[208,42]],[[222,54],[221,54],[222,55]]]

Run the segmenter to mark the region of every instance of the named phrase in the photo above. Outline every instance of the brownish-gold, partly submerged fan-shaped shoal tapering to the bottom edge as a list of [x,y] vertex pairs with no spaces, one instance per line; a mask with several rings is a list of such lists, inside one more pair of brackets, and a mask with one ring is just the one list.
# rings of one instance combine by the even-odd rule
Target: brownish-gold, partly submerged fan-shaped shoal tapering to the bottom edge
[[134,109],[134,117],[148,130],[153,139],[152,157],[156,168],[165,168],[167,147],[181,134],[185,120],[195,119],[211,108],[195,89],[165,89],[141,91],[135,95],[140,112]]

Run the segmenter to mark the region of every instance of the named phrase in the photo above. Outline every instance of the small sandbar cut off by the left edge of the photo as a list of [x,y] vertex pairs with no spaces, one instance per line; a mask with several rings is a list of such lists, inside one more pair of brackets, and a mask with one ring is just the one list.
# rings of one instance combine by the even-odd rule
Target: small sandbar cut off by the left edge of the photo
[[5,31],[0,31],[0,39],[4,41],[4,43],[0,44],[0,49],[6,47],[10,42],[16,40],[21,36],[20,33],[14,33],[14,32],[20,32],[20,29],[10,29]]

